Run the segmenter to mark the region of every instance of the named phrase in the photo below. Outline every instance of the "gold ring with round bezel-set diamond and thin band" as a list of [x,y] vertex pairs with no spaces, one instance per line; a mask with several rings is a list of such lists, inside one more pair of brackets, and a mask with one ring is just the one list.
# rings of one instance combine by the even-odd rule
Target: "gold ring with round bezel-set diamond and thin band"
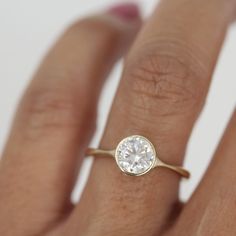
[[115,150],[88,148],[86,156],[109,155],[115,158],[120,170],[127,175],[140,176],[156,167],[165,167],[184,178],[190,173],[180,166],[164,163],[157,156],[154,145],[141,135],[132,135],[120,141]]

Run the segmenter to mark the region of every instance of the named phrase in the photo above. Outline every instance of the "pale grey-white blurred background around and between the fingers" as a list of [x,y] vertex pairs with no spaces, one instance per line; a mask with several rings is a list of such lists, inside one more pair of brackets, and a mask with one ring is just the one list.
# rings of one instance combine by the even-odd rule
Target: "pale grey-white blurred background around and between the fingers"
[[[0,152],[9,131],[16,104],[37,68],[42,56],[61,31],[72,21],[99,11],[116,0],[0,0]],[[157,1],[140,0],[144,15]],[[203,6],[204,7],[204,6]],[[219,13],[220,14],[220,13]],[[236,104],[236,27],[231,27],[223,48],[210,95],[188,146],[185,166],[192,172],[190,181],[181,185],[181,197],[187,199],[199,182],[216,144]],[[118,65],[105,86],[100,102],[99,129],[93,144],[98,143],[120,77]],[[109,88],[109,89],[108,89]],[[109,90],[109,92],[108,92]],[[89,168],[87,161],[78,197]]]

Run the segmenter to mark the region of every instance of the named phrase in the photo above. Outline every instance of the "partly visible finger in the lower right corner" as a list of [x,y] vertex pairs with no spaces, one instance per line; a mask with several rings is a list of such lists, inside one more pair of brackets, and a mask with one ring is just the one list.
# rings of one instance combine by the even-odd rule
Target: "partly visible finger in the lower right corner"
[[[180,235],[234,235],[236,199],[236,111],[205,176],[174,230]],[[192,219],[194,216],[194,220]],[[188,227],[186,227],[188,225]],[[181,234],[181,231],[184,234]]]

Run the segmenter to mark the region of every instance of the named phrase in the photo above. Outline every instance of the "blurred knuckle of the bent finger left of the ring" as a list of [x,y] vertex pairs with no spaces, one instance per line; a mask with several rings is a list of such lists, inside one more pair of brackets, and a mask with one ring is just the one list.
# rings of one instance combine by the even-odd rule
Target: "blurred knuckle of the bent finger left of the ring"
[[38,136],[45,132],[75,127],[77,122],[75,101],[65,88],[33,88],[24,104],[24,123],[27,135]]

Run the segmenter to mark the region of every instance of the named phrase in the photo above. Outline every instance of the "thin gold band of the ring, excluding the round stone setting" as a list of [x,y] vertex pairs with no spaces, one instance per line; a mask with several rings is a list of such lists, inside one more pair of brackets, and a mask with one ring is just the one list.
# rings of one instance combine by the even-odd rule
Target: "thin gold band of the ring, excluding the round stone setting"
[[[115,158],[115,152],[116,150],[102,150],[102,149],[97,149],[97,148],[88,148],[86,151],[86,156],[105,155],[105,156],[112,156]],[[180,166],[173,166],[173,165],[166,164],[163,161],[159,160],[158,158],[156,158],[156,163],[153,166],[153,168],[156,168],[156,167],[164,167],[169,170],[175,171],[176,173],[180,174],[182,177],[187,178],[187,179],[190,177],[189,171],[185,170],[184,168]]]

